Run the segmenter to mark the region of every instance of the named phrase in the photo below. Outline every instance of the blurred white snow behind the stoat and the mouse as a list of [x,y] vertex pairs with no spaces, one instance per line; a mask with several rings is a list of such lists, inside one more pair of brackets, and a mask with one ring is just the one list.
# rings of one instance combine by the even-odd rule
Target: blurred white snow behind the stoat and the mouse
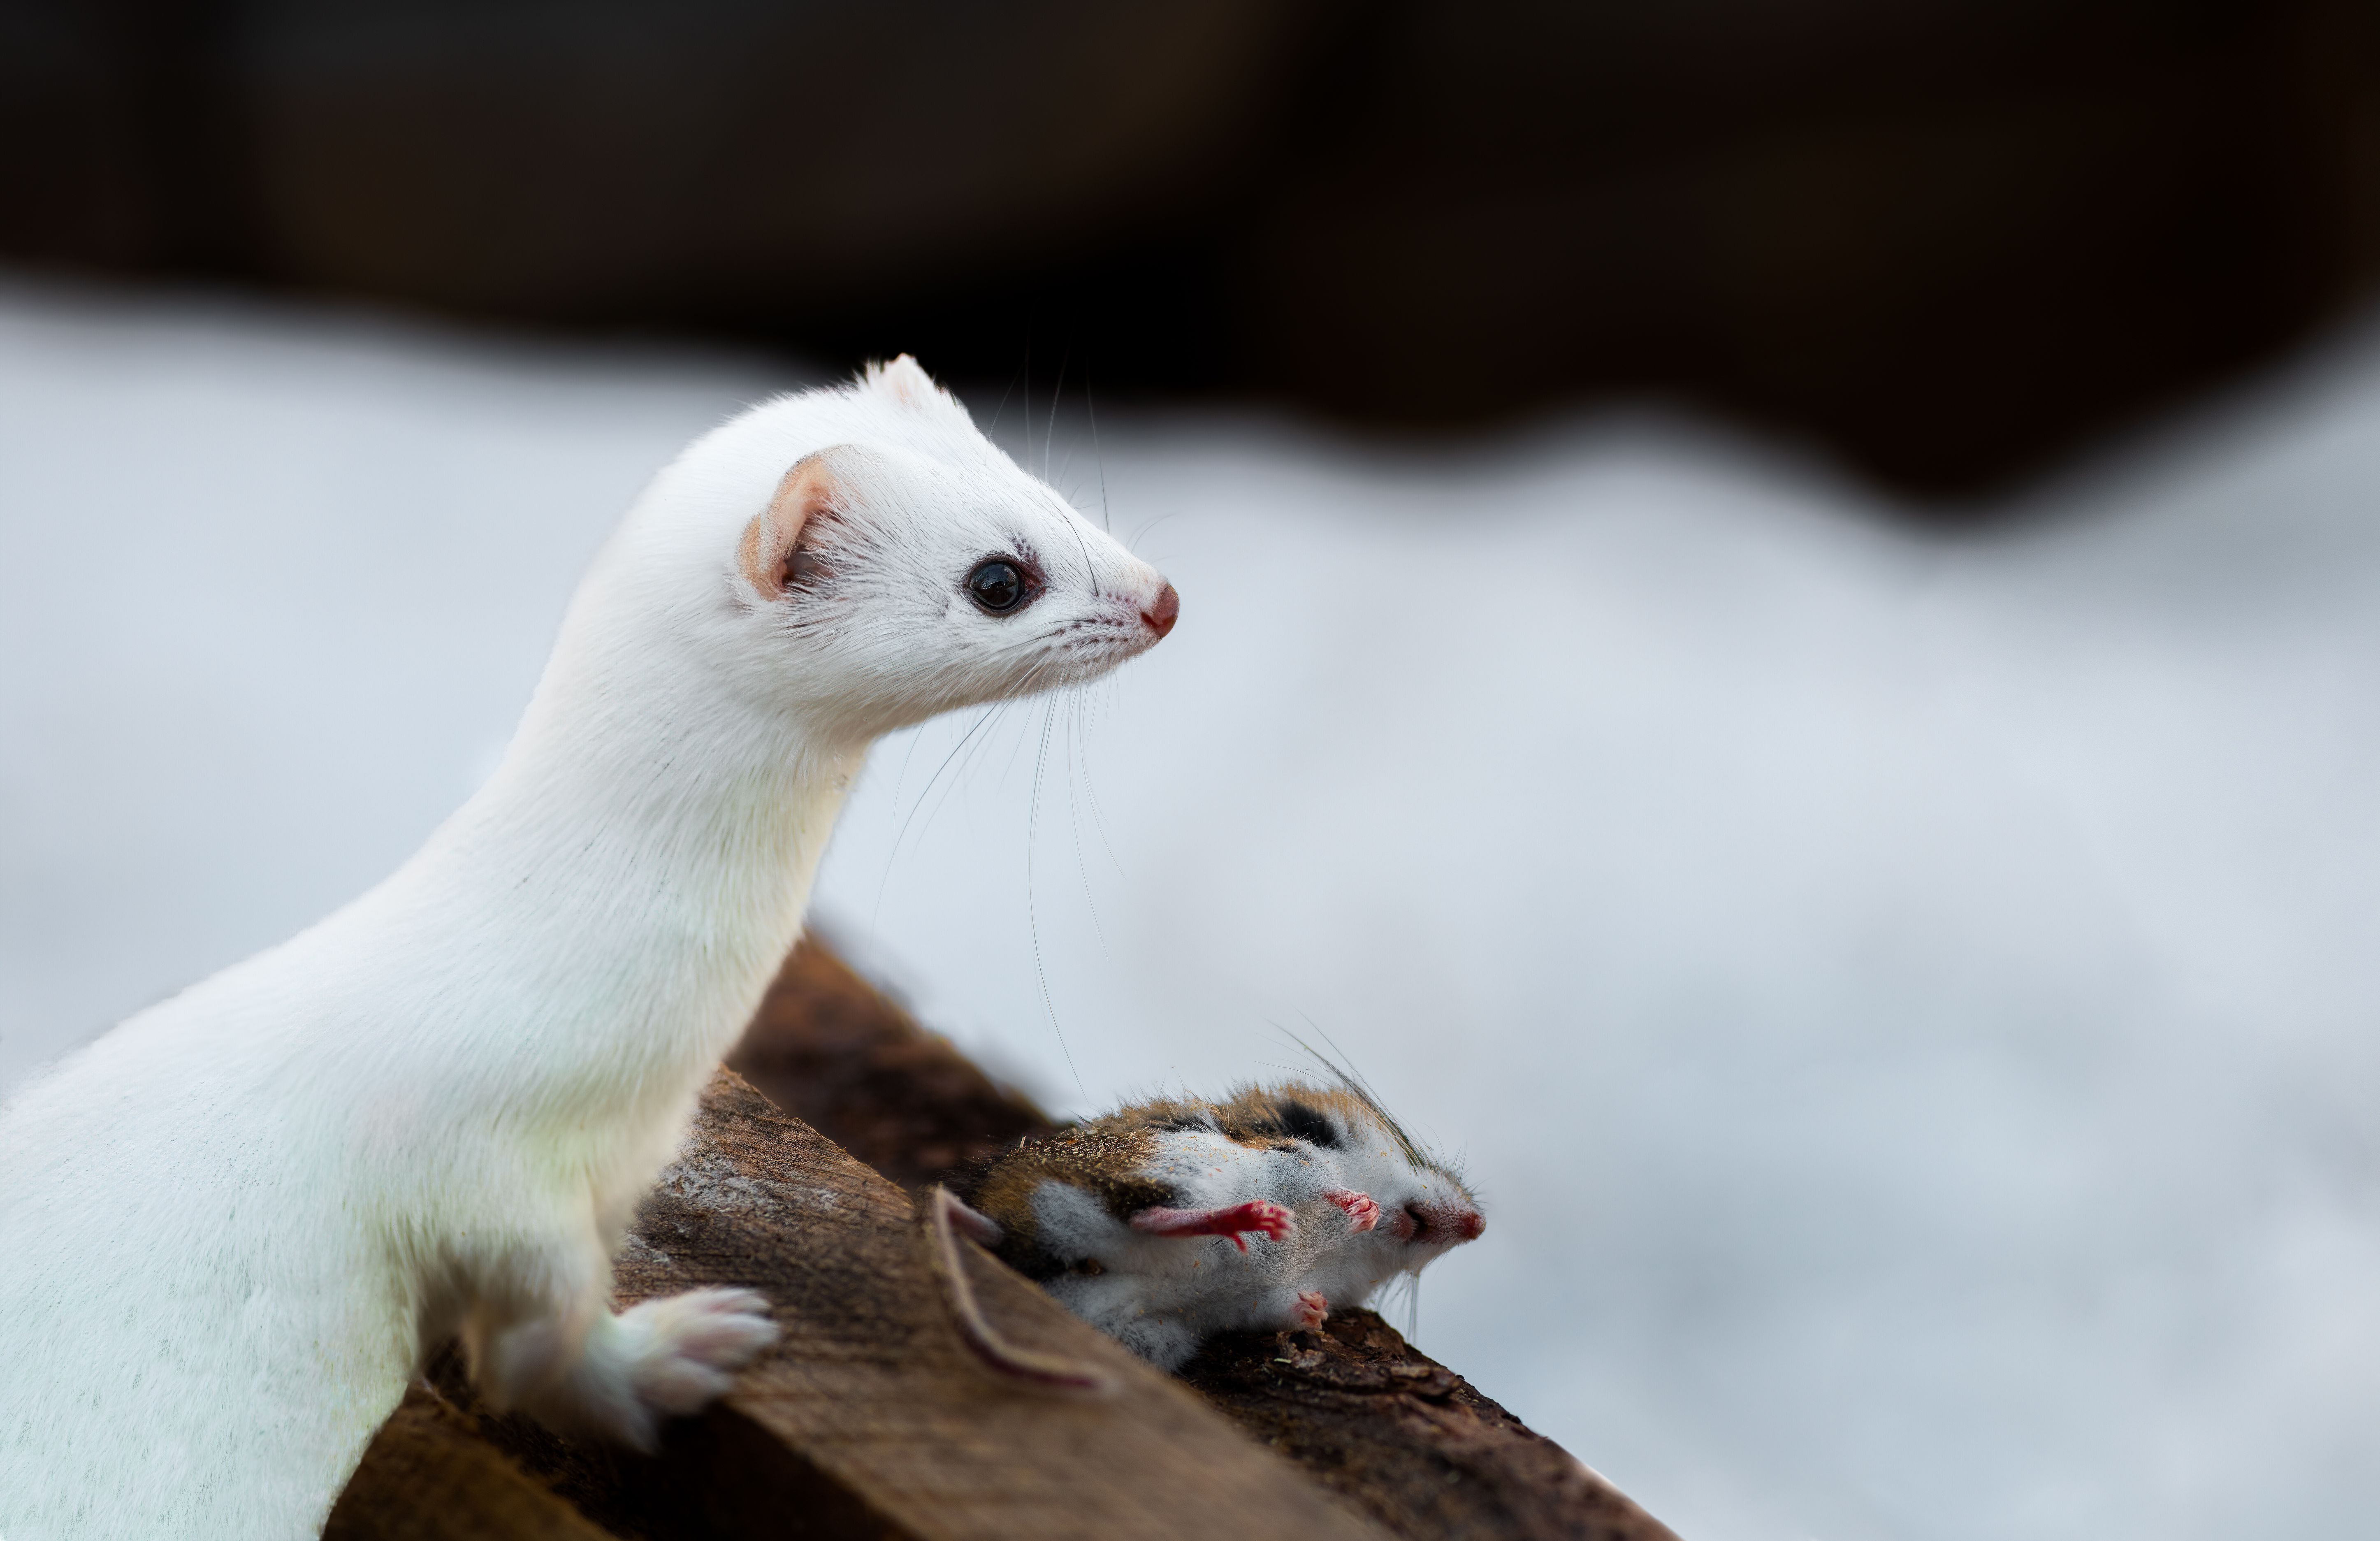
[[[0,1088],[386,874],[793,381],[0,288]],[[819,912],[928,1022],[1066,1110],[1330,1034],[1490,1205],[1423,1346],[1695,1541],[2373,1531],[2380,331],[1956,538],[1676,419],[1081,429],[1183,622],[878,748]]]

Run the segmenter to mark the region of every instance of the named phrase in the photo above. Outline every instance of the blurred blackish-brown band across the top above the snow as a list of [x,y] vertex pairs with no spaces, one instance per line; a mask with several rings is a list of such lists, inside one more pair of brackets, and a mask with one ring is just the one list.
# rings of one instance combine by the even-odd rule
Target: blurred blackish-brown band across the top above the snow
[[2380,272],[2363,0],[0,0],[0,252],[1956,495]]

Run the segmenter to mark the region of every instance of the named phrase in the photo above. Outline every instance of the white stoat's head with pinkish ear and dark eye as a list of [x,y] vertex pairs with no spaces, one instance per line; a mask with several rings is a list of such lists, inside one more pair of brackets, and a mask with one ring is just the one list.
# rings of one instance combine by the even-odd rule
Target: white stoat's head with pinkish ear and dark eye
[[712,595],[676,634],[750,703],[850,738],[1095,679],[1180,607],[907,355],[752,407],[645,505]]

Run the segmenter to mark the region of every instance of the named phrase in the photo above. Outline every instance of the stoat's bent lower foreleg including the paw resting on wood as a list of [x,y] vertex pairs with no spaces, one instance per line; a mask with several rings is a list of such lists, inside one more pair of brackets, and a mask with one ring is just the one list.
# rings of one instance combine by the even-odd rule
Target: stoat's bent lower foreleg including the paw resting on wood
[[493,1408],[566,1434],[652,1450],[664,1417],[716,1400],[776,1341],[769,1300],[747,1289],[697,1289],[614,1315],[600,1253],[593,1269],[581,1258],[559,1272],[583,1284],[555,1291],[564,1298],[547,1296],[543,1310],[519,1296],[483,1298],[464,1343]]

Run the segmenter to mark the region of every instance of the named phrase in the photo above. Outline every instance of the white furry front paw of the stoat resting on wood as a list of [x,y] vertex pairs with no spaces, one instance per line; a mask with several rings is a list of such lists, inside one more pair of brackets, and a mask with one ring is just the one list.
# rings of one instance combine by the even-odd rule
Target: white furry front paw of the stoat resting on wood
[[697,1289],[631,1305],[588,1334],[562,1422],[654,1450],[664,1417],[700,1412],[776,1341],[769,1300],[750,1289]]

